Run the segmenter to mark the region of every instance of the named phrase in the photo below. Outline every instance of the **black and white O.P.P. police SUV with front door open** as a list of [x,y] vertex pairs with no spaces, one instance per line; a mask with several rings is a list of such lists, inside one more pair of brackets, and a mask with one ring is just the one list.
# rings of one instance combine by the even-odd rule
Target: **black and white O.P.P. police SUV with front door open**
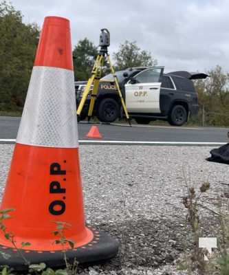
[[[206,78],[204,73],[185,71],[164,74],[164,67],[133,67],[116,72],[122,96],[131,118],[139,124],[153,120],[167,120],[182,126],[190,115],[198,112],[194,79]],[[76,82],[76,102],[82,98],[86,82]],[[80,114],[87,116],[90,94]],[[122,118],[122,104],[112,74],[100,80],[94,115],[101,122],[114,122]]]

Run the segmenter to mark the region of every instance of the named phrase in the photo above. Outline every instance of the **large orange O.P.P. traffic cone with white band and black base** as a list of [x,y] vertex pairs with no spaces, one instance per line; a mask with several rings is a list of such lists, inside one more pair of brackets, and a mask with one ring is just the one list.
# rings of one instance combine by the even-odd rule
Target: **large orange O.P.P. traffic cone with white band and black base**
[[[6,208],[14,208],[7,231],[30,263],[63,265],[63,246],[53,234],[58,221],[71,225],[65,230],[74,242],[70,260],[98,261],[118,252],[116,240],[85,226],[71,37],[69,21],[61,17],[46,17],[43,24],[1,203]],[[23,248],[22,242],[31,245]],[[1,257],[0,265],[25,267],[2,232],[1,249],[11,258]]]

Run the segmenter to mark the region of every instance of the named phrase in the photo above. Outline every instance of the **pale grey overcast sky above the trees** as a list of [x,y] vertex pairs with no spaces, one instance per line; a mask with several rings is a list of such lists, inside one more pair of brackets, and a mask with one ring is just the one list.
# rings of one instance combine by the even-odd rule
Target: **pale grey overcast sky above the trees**
[[25,23],[41,27],[45,16],[71,21],[72,44],[87,37],[98,45],[111,32],[110,53],[126,39],[157,58],[166,71],[229,72],[229,0],[12,0]]

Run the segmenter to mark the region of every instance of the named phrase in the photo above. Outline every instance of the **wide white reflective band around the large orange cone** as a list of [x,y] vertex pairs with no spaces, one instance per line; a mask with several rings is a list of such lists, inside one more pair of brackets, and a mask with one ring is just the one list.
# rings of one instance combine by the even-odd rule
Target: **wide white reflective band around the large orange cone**
[[16,142],[58,148],[78,147],[72,70],[33,68]]

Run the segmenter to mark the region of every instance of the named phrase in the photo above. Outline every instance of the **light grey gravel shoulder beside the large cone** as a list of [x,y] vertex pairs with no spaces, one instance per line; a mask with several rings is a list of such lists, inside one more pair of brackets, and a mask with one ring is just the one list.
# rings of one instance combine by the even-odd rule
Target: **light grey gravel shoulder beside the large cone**
[[[0,145],[0,188],[6,182],[13,145]],[[80,274],[183,274],[175,260],[186,251],[186,182],[209,181],[210,197],[228,183],[228,166],[207,162],[211,147],[80,146],[87,223],[116,236],[115,259],[80,267]],[[202,212],[206,234],[216,221]]]

